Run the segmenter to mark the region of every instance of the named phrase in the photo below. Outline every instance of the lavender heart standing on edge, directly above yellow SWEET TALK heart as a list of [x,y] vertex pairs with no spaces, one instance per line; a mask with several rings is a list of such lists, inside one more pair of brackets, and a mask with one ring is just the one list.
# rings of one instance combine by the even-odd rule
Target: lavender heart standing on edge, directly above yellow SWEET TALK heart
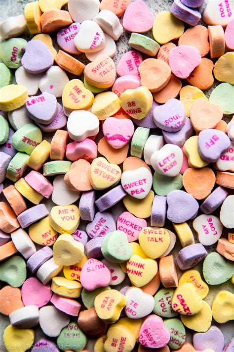
[[166,197],[155,196],[152,204],[151,226],[163,227],[166,221]]

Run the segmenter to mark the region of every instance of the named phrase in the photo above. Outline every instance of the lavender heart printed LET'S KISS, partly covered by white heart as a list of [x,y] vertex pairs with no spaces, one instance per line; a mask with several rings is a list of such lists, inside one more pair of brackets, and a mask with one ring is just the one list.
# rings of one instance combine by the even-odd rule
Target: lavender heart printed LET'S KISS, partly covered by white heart
[[60,48],[73,55],[78,55],[80,53],[74,44],[74,38],[79,32],[79,28],[80,23],[74,22],[67,28],[63,28],[57,33],[57,43]]

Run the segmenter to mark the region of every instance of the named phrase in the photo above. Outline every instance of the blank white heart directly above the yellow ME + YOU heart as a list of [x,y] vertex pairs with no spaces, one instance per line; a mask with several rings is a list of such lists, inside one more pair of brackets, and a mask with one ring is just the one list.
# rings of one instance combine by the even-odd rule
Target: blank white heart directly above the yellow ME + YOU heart
[[64,182],[64,175],[55,177],[53,188],[52,201],[57,205],[70,205],[79,199],[80,193],[67,187]]

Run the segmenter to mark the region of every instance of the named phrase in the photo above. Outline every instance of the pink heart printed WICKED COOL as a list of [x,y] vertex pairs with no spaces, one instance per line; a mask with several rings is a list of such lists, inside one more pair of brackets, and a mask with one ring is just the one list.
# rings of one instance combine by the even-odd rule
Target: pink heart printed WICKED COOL
[[139,233],[146,226],[145,219],[140,219],[128,211],[124,211],[117,219],[117,230],[123,231],[127,235],[128,242],[138,240]]

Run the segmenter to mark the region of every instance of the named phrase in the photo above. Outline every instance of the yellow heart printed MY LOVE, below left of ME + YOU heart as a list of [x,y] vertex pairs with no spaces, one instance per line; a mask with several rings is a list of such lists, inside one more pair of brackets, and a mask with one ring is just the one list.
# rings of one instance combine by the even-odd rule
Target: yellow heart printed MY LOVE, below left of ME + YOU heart
[[58,237],[58,232],[52,228],[49,223],[49,216],[46,216],[30,226],[29,236],[38,245],[52,246]]

